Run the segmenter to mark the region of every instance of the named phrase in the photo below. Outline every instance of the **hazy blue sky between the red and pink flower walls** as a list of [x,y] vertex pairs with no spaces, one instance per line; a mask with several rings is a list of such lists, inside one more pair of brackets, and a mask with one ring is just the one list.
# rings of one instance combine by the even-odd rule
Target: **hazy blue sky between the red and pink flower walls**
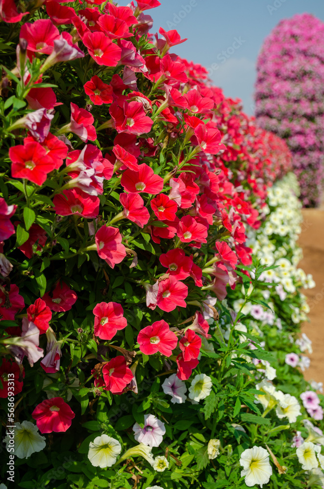
[[255,63],[264,38],[281,19],[295,14],[311,13],[324,22],[324,0],[160,1],[160,7],[145,12],[154,20],[152,32],[162,26],[188,38],[173,52],[205,66],[226,96],[242,99],[248,114],[254,111]]

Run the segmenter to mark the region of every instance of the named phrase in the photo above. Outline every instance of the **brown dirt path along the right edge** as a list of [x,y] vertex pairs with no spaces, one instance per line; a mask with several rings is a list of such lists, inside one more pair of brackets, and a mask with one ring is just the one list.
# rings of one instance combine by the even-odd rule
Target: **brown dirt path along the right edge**
[[310,307],[310,323],[305,323],[302,331],[313,342],[310,367],[304,376],[306,380],[324,383],[324,209],[303,209],[302,215],[299,245],[303,259],[299,266],[305,273],[311,273],[316,282],[314,289],[304,291]]

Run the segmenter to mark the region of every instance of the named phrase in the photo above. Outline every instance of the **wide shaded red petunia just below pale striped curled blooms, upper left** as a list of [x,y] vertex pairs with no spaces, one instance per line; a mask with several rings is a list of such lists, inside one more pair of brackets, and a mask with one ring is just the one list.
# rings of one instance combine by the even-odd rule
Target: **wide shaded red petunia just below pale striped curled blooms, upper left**
[[75,187],[63,190],[53,199],[54,210],[59,216],[78,216],[95,219],[99,214],[100,200],[95,195],[89,195]]

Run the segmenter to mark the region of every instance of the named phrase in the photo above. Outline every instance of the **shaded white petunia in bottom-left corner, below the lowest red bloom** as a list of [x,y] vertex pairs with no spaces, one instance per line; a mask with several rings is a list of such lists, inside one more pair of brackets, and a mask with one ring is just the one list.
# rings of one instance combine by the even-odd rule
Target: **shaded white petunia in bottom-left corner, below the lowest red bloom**
[[[37,426],[30,421],[15,423],[14,447],[15,451],[11,452],[18,458],[28,458],[34,452],[40,452],[46,447],[46,438],[42,436]],[[10,438],[7,435],[4,438],[4,443],[9,446]]]

